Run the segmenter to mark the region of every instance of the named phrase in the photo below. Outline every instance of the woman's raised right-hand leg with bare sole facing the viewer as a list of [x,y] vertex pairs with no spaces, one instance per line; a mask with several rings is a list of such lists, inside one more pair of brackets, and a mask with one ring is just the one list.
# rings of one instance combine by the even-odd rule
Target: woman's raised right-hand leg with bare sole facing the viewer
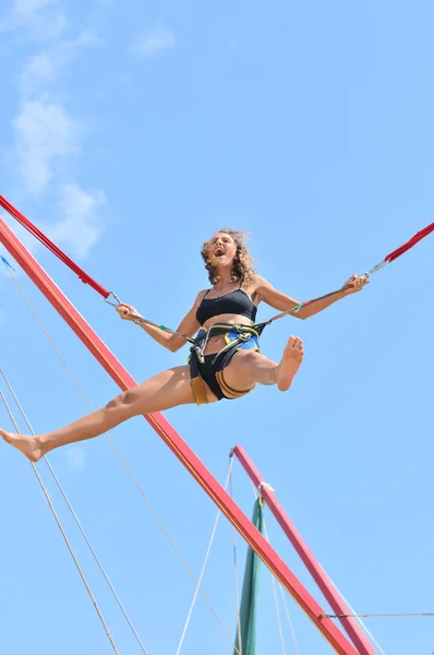
[[277,384],[280,391],[287,391],[303,357],[303,342],[298,336],[288,340],[279,364],[255,350],[239,350],[224,370],[225,382],[237,391],[248,391],[255,384]]

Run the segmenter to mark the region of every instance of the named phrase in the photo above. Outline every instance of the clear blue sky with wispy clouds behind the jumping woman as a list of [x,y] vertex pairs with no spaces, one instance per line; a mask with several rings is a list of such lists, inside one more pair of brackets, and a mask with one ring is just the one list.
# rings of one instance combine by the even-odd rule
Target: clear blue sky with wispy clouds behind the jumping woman
[[[258,272],[298,300],[335,289],[433,221],[433,23],[427,1],[8,1],[0,192],[103,285],[168,325],[207,286],[200,247],[221,226],[249,230]],[[186,348],[170,354],[121,323],[16,234],[135,379],[185,361]],[[248,450],[363,614],[434,609],[433,243],[378,272],[362,294],[265,331],[262,348],[274,359],[289,334],[304,338],[305,361],[287,394],[264,388],[237,403],[167,413],[220,481],[230,448]],[[31,281],[20,271],[16,279],[92,405],[105,404],[114,384]],[[83,398],[7,273],[0,289],[0,366],[34,429],[81,416]],[[272,314],[262,306],[258,319]],[[10,425],[2,407],[0,420]],[[215,507],[143,418],[112,439],[198,574]],[[109,442],[49,460],[149,655],[176,653],[194,585]],[[31,466],[5,445],[1,463],[0,651],[112,652]],[[119,653],[140,653],[47,467],[38,469]],[[233,486],[251,514],[238,465]],[[322,602],[266,519],[279,553]],[[237,544],[241,575],[245,548]],[[232,531],[220,520],[204,591],[231,635],[233,580]],[[265,569],[260,606],[258,655],[280,653]],[[288,607],[300,655],[331,652],[290,598]],[[387,654],[427,655],[432,620],[366,626]],[[296,653],[285,617],[284,630]],[[202,599],[181,652],[232,652]]]

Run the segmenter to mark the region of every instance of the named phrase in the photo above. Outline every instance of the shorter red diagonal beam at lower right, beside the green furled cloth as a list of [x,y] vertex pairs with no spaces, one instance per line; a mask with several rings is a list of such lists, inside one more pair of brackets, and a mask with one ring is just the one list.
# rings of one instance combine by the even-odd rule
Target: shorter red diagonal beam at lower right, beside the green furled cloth
[[[284,508],[277,500],[274,491],[265,484],[265,480],[256,466],[253,464],[252,460],[249,457],[248,453],[241,445],[237,445],[233,449],[233,454],[237,455],[241,465],[245,469],[250,479],[253,481],[256,488],[261,488],[262,497],[265,502],[272,510],[272,513],[276,517],[277,522],[284,529],[285,534],[291,541],[292,546],[296,548],[297,552],[303,560],[306,565],[309,572],[312,574],[312,577],[323,592],[324,596],[330,604],[336,615],[350,615],[353,614],[349,607],[347,607],[346,603],[336,591],[333,585],[333,582],[327,576],[320,562],[316,560],[314,555],[309,549],[308,545],[301,537],[300,533],[296,528],[294,524],[285,512]],[[370,653],[370,655],[375,655],[375,650],[372,644],[367,640],[366,635],[360,628],[359,623],[353,617],[341,617],[340,621],[347,631],[348,635],[351,638],[354,645],[360,650],[361,653]],[[363,648],[363,650],[362,650]]]

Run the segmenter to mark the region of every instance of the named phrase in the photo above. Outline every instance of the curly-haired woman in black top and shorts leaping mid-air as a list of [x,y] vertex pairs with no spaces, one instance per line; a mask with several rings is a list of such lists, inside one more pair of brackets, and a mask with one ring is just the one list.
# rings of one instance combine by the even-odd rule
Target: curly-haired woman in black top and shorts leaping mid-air
[[[53,432],[33,437],[0,430],[0,436],[28,460],[37,462],[60,445],[98,437],[140,414],[238,398],[253,391],[256,384],[276,384],[280,391],[287,391],[303,361],[303,342],[291,336],[280,361],[272,361],[260,353],[262,330],[261,324],[255,327],[255,319],[260,302],[288,311],[298,301],[255,274],[242,233],[231,229],[217,233],[203,245],[202,257],[212,288],[197,294],[177,330],[190,337],[196,335],[186,365],[154,376],[101,409]],[[359,291],[367,282],[353,275],[340,290],[301,306],[294,315],[308,319]],[[117,311],[124,321],[137,322],[134,318],[137,312],[131,305],[121,303]],[[180,335],[146,323],[137,324],[172,353],[185,344]]]

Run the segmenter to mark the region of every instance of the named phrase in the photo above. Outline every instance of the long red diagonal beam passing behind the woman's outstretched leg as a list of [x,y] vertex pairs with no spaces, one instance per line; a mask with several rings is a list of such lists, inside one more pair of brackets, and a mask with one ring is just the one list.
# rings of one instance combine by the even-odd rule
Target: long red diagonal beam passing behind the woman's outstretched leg
[[[114,357],[111,350],[86,323],[75,307],[52,282],[49,275],[38,264],[35,258],[24,248],[13,231],[0,218],[0,241],[9,250],[15,261],[33,279],[44,296],[51,302],[79,338],[96,357],[112,380],[125,391],[136,385],[134,379]],[[331,619],[323,618],[324,610],[310,595],[285,562],[273,550],[250,519],[233,502],[230,496],[219,485],[215,477],[204,466],[201,460],[181,439],[174,428],[160,413],[146,414],[145,419],[152,425],[164,442],[176,454],[189,473],[217,504],[227,519],[232,523],[249,546],[268,567],[277,580],[305,611],[320,632],[339,655],[371,655],[365,648],[355,651],[353,645],[339,631]]]

